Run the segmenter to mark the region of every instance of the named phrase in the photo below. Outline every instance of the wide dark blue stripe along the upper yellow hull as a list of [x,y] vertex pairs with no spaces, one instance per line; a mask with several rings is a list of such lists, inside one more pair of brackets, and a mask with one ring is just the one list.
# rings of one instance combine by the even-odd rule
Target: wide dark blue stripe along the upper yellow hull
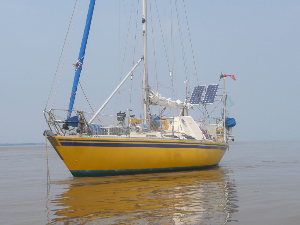
[[131,148],[188,148],[188,149],[221,149],[226,150],[227,146],[205,146],[204,144],[185,145],[177,143],[177,145],[170,144],[131,144],[131,143],[91,143],[91,142],[60,142],[62,146],[90,146],[90,147],[131,147]]

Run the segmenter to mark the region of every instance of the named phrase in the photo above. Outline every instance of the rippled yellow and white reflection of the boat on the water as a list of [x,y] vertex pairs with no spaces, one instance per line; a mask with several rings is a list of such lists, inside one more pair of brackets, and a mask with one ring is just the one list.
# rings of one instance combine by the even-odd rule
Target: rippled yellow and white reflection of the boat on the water
[[234,180],[220,167],[55,184],[68,187],[48,204],[48,224],[226,224],[238,208]]

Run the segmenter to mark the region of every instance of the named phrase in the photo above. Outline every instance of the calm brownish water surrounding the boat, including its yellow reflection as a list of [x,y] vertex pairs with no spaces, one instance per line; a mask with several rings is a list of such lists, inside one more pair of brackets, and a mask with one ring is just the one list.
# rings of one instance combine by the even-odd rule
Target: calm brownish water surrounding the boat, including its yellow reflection
[[73,178],[48,146],[0,147],[0,224],[299,224],[300,141],[234,142],[219,167]]

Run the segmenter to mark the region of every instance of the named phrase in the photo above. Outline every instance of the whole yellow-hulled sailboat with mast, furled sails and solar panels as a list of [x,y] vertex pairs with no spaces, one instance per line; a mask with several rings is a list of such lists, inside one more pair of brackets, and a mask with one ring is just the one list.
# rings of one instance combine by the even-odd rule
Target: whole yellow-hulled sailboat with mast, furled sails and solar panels
[[[61,160],[74,177],[114,176],[136,173],[154,173],[179,170],[197,170],[216,166],[234,141],[232,127],[235,119],[228,118],[225,110],[225,77],[223,93],[217,95],[219,84],[198,85],[188,91],[185,100],[172,101],[152,91],[148,84],[147,64],[147,8],[142,1],[142,38],[143,55],[120,82],[110,97],[96,113],[73,110],[79,76],[82,71],[85,46],[91,26],[95,0],[91,0],[80,47],[78,61],[75,64],[75,76],[70,95],[68,110],[44,110],[49,130],[44,135],[51,143]],[[132,76],[137,66],[143,64],[142,115],[136,118],[119,112],[116,116],[101,114],[107,103],[118,92],[123,83]],[[171,73],[171,71],[170,71]],[[195,105],[206,107],[213,104],[216,97],[223,103],[221,118],[214,123],[195,121],[184,112]],[[150,111],[150,105],[164,107],[156,115]],[[165,115],[166,107],[175,109],[177,115]],[[66,117],[58,116],[65,113]],[[73,114],[73,116],[72,116]],[[187,113],[186,113],[187,114]],[[63,118],[63,119],[62,119]]]

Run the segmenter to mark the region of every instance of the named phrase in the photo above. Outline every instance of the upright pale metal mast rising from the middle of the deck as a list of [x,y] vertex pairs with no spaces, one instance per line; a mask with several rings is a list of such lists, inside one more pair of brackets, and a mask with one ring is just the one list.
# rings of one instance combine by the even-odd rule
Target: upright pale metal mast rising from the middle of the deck
[[147,2],[142,1],[142,23],[143,23],[143,108],[144,124],[148,124],[148,65],[147,65]]

